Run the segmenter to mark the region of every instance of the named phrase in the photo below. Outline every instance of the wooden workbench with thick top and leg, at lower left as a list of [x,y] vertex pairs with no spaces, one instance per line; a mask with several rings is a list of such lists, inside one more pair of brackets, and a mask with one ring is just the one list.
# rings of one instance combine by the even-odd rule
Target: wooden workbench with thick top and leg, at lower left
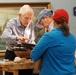
[[20,69],[33,69],[34,68],[34,62],[27,59],[24,63],[15,63],[13,61],[9,62],[0,62],[0,70],[1,71],[7,71],[12,72],[13,75],[18,75],[18,70]]

